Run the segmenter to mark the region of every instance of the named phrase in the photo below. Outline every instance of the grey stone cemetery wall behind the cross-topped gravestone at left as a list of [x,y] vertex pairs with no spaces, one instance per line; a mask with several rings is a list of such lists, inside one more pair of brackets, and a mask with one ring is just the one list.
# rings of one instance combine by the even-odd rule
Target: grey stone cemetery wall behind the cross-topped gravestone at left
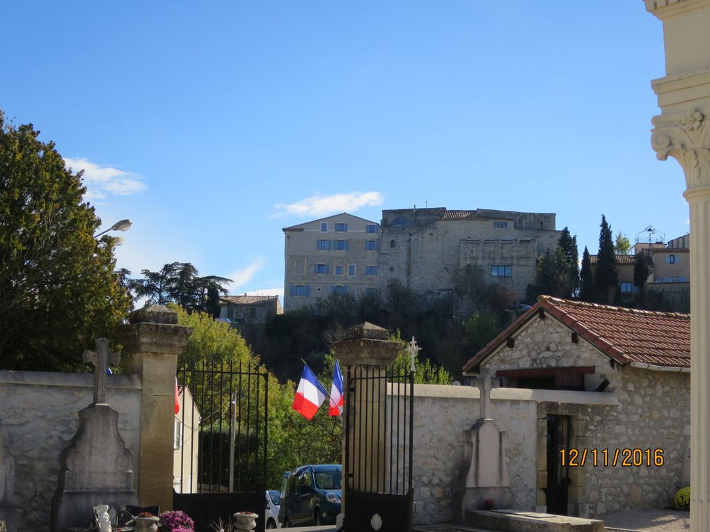
[[[0,440],[15,459],[20,531],[49,530],[59,455],[77,431],[77,412],[89,406],[93,393],[94,376],[89,373],[0,371]],[[119,411],[119,431],[133,451],[133,470],[138,471],[138,376],[109,375],[107,402]],[[137,475],[133,478],[138,481]]]

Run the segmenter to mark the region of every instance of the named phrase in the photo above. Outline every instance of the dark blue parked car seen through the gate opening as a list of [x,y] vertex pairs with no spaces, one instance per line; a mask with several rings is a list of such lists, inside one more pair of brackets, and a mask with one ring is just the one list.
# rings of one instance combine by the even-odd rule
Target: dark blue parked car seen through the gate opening
[[278,511],[278,522],[289,526],[335,523],[340,513],[342,466],[302,465],[291,472]]

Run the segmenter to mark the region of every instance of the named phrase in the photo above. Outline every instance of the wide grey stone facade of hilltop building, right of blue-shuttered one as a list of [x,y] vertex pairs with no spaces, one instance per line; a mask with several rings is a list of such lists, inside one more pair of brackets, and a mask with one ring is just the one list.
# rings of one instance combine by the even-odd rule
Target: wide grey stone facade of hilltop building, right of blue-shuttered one
[[394,280],[419,294],[442,295],[453,291],[466,268],[479,267],[488,282],[524,299],[537,257],[557,248],[560,233],[550,213],[383,211],[379,287]]

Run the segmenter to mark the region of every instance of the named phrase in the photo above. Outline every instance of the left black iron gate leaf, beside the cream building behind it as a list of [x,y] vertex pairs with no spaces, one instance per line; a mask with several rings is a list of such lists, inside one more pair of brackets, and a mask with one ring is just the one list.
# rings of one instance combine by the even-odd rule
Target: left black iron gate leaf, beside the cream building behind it
[[[204,363],[178,371],[173,508],[196,532],[237,511],[258,514],[264,530],[268,375],[254,365]],[[226,530],[226,526],[225,526]]]

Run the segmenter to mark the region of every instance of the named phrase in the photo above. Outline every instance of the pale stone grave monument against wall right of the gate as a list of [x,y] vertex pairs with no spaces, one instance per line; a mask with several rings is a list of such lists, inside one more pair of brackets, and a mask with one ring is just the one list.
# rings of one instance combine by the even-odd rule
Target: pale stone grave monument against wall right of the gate
[[512,504],[508,466],[506,463],[505,431],[491,418],[491,372],[481,370],[479,376],[479,419],[464,431],[464,494],[461,499],[463,520],[467,510],[484,509],[484,501],[493,499],[496,508]]

